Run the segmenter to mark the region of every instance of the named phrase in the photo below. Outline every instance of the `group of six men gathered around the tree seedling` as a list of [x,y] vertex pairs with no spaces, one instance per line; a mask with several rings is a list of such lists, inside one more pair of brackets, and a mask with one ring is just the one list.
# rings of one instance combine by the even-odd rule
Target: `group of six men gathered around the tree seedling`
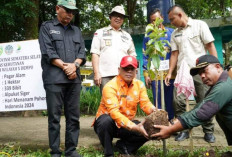
[[[52,157],[60,157],[62,154],[60,118],[63,107],[66,118],[65,156],[81,156],[76,151],[80,130],[80,66],[85,64],[86,56],[81,31],[70,23],[76,10],[75,0],[58,0],[57,17],[44,22],[39,33]],[[149,137],[143,127],[144,122],[136,121],[134,117],[138,104],[147,115],[156,109],[148,98],[146,86],[136,79],[138,62],[135,58],[135,47],[130,34],[121,29],[127,17],[122,6],[114,7],[109,14],[110,25],[94,33],[90,50],[94,82],[100,86],[102,93],[93,126],[104,147],[105,157],[114,156],[113,138],[119,138],[115,147],[120,153],[126,155],[135,153],[148,141]],[[158,10],[150,17],[152,22],[155,18],[162,18],[162,15]],[[178,70],[181,60],[187,60],[192,68],[191,74],[200,74],[196,79],[194,78],[195,87],[200,88],[199,91],[197,90],[196,97],[199,103],[194,110],[184,113],[185,104],[182,104],[182,100],[185,98],[175,101],[178,105],[174,106],[175,110],[173,110],[172,98],[166,97],[169,117],[173,118],[175,111],[175,116],[178,118],[172,126],[154,126],[161,131],[152,136],[158,139],[167,138],[176,131],[201,125],[216,114],[228,144],[231,145],[232,125],[229,123],[232,119],[232,96],[229,93],[232,92],[232,88],[229,86],[232,81],[227,72],[222,70],[218,59],[212,56],[217,56],[212,34],[204,22],[188,18],[179,6],[170,8],[169,19],[177,27],[175,31],[163,25],[160,26],[167,30],[167,39],[171,39],[170,54],[166,58],[170,59],[170,69],[165,79],[166,91],[172,97],[174,68],[177,64]],[[204,55],[205,48],[212,55]],[[199,59],[196,67],[193,68],[197,58]],[[200,78],[204,84],[211,86],[205,98],[203,93],[198,93],[204,91]],[[149,78],[146,78],[146,83],[148,82]],[[222,99],[220,94],[223,91],[226,91],[226,94]],[[175,98],[178,97],[174,96]],[[214,142],[212,125],[207,125],[205,128],[205,136],[207,136],[205,139],[208,138],[209,142]],[[184,138],[187,138],[187,135],[182,137]]]

